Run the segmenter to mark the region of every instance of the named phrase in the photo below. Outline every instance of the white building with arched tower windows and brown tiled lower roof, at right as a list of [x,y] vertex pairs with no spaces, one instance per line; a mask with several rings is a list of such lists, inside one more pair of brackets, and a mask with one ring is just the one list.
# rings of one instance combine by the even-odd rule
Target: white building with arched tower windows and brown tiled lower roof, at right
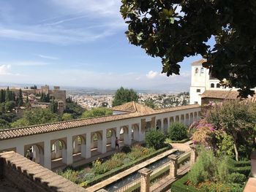
[[219,80],[211,77],[209,69],[203,68],[200,59],[192,63],[189,104],[207,104],[209,101],[237,99],[238,88],[224,88]]

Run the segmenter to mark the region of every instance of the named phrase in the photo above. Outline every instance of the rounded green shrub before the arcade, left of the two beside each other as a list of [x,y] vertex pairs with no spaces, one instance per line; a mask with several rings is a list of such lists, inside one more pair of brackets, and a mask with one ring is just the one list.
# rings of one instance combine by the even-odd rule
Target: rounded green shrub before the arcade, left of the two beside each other
[[157,129],[151,128],[146,133],[146,145],[148,147],[154,147],[155,150],[158,150],[162,147],[165,147],[165,134]]

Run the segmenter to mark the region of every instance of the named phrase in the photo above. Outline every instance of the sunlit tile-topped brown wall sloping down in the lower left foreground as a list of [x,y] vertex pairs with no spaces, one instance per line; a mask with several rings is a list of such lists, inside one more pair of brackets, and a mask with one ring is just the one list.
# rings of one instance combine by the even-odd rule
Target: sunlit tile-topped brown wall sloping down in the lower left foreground
[[86,191],[13,151],[0,153],[0,180],[15,185],[18,191]]

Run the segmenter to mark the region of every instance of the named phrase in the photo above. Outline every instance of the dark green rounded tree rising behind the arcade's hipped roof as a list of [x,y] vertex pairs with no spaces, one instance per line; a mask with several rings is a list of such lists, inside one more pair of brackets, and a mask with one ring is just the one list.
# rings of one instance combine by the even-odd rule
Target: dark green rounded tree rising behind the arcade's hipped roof
[[121,87],[115,93],[112,106],[115,107],[130,101],[138,101],[138,99],[139,96],[136,91]]

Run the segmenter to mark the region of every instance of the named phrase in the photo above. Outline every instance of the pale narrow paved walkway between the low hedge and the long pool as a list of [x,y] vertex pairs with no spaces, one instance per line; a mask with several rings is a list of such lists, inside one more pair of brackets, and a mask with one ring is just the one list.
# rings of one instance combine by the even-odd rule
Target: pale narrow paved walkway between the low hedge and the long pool
[[86,190],[91,191],[91,192],[98,191],[99,189],[104,188],[105,186],[110,185],[111,183],[114,183],[117,180],[120,180],[121,178],[126,177],[127,175],[129,175],[133,172],[137,172],[138,170],[142,169],[143,167],[147,166],[148,164],[152,164],[153,162],[159,160],[160,158],[163,158],[163,157],[170,155],[171,153],[174,153],[174,152],[176,152],[176,149],[167,150],[164,153],[161,153],[161,154],[155,156],[154,158],[148,159],[147,161],[144,161],[141,164],[132,166],[131,168],[125,170],[124,172],[120,172],[120,173],[114,175],[113,177],[108,178],[107,180],[104,180],[100,183],[92,185],[91,187],[86,188]]

